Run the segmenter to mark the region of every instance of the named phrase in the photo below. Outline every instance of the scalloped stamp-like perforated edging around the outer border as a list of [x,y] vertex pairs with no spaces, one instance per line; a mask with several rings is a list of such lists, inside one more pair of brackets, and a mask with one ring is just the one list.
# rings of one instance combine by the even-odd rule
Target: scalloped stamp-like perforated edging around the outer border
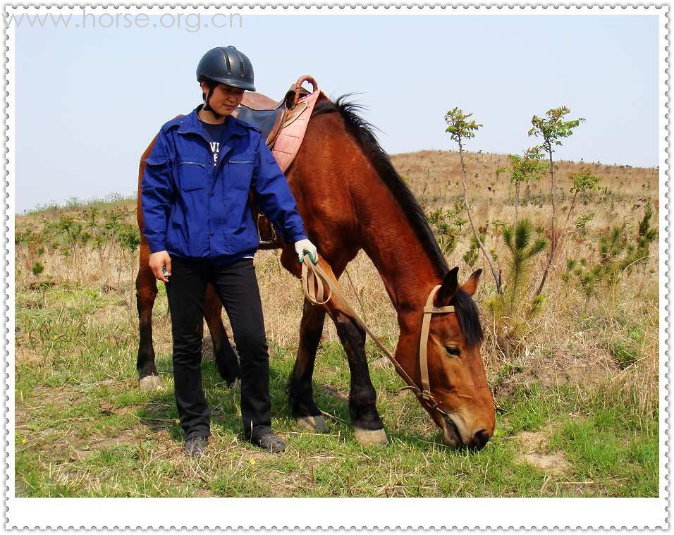
[[[654,4],[654,3],[643,3],[643,4],[597,4],[597,3],[580,3],[580,4],[542,4],[542,3],[522,3],[522,4],[486,4],[486,3],[465,3],[465,4],[455,4],[455,5],[446,5],[446,4],[441,4],[441,3],[409,3],[409,4],[390,4],[390,3],[376,3],[376,2],[367,2],[367,3],[354,3],[354,4],[336,4],[336,3],[328,3],[328,2],[307,2],[307,3],[302,3],[302,2],[290,2],[287,4],[274,4],[271,2],[253,2],[253,3],[233,3],[233,4],[208,4],[208,3],[202,3],[202,4],[154,4],[154,3],[148,3],[148,4],[42,4],[42,3],[36,3],[36,4],[5,4],[4,9],[3,9],[3,14],[6,16],[6,13],[8,13],[11,10],[16,10],[20,8],[38,8],[38,9],[44,9],[46,8],[47,10],[51,9],[58,9],[59,11],[62,10],[63,8],[96,8],[96,9],[103,9],[104,11],[107,11],[108,9],[110,10],[118,10],[119,8],[149,8],[151,9],[152,12],[154,11],[164,11],[166,9],[188,9],[188,8],[204,8],[204,9],[209,9],[209,8],[259,8],[262,11],[266,10],[266,8],[269,8],[273,11],[276,11],[277,9],[283,9],[285,11],[288,11],[290,8],[294,8],[295,10],[299,10],[300,8],[316,8],[319,11],[322,9],[326,9],[327,12],[325,13],[326,15],[329,14],[330,11],[334,9],[339,9],[339,10],[345,10],[348,9],[350,11],[356,10],[360,8],[360,10],[365,10],[365,9],[374,9],[374,10],[379,10],[381,9],[384,13],[388,10],[391,9],[396,9],[396,10],[401,10],[405,9],[408,11],[412,11],[413,8],[417,8],[419,10],[424,10],[424,9],[430,9],[431,12],[435,9],[439,9],[441,11],[453,9],[453,10],[468,10],[471,9],[473,11],[475,10],[482,10],[482,11],[491,11],[493,14],[498,14],[499,11],[522,11],[523,8],[529,8],[533,9],[534,11],[541,11],[541,14],[546,13],[546,11],[554,10],[554,11],[559,11],[559,10],[577,10],[579,8],[588,8],[590,10],[599,10],[603,11],[604,9],[608,10],[627,10],[627,9],[635,9],[635,8],[645,8],[647,10],[649,9],[654,9],[655,11],[658,11],[658,17],[664,17],[666,18],[666,23],[664,24],[664,27],[666,28],[665,35],[661,37],[660,41],[661,44],[664,42],[665,46],[664,49],[662,47],[660,48],[660,52],[663,55],[663,59],[660,61],[660,88],[658,90],[658,97],[661,99],[661,108],[659,111],[659,116],[658,118],[661,120],[661,125],[660,125],[660,136],[659,140],[661,143],[660,147],[660,165],[661,168],[659,169],[660,171],[660,185],[661,189],[659,191],[660,194],[660,199],[662,201],[662,198],[664,197],[665,202],[661,202],[661,209],[660,209],[660,214],[659,214],[659,224],[660,228],[666,228],[666,237],[664,240],[660,240],[660,269],[659,269],[659,281],[660,281],[660,356],[661,356],[661,362],[660,362],[660,407],[661,409],[664,407],[665,411],[662,412],[661,410],[661,424],[665,424],[666,426],[666,433],[663,436],[661,433],[661,447],[660,447],[660,455],[661,455],[661,462],[660,462],[660,476],[661,476],[661,496],[660,498],[665,498],[666,503],[670,504],[670,496],[669,496],[669,481],[670,481],[670,474],[668,472],[670,463],[670,441],[669,441],[669,425],[670,425],[670,419],[669,419],[669,414],[670,414],[670,387],[671,387],[671,376],[670,376],[670,366],[669,366],[669,347],[670,347],[670,330],[669,330],[669,324],[670,324],[670,293],[672,292],[672,285],[670,281],[670,262],[669,262],[669,255],[671,254],[670,252],[670,247],[669,247],[669,235],[670,235],[670,219],[669,219],[669,154],[670,154],[670,149],[669,149],[669,109],[670,109],[670,92],[669,92],[669,77],[670,77],[670,63],[669,63],[669,51],[670,51],[670,20],[669,20],[669,8],[668,4]],[[382,13],[382,14],[384,14]],[[5,58],[5,70],[4,70],[4,80],[5,80],[5,92],[4,92],[4,104],[5,104],[5,113],[4,113],[4,127],[5,127],[5,136],[4,136],[4,153],[5,153],[5,180],[4,180],[4,199],[5,202],[3,203],[3,207],[1,209],[2,214],[4,214],[4,241],[5,241],[5,246],[3,247],[3,253],[2,256],[4,257],[4,266],[5,269],[3,270],[3,280],[4,280],[4,326],[5,326],[5,331],[4,331],[4,343],[5,343],[5,373],[3,376],[3,386],[4,386],[4,398],[2,401],[2,407],[4,409],[4,419],[3,419],[3,430],[4,430],[4,443],[3,443],[3,453],[4,453],[4,465],[3,465],[3,481],[4,484],[2,486],[3,491],[3,499],[4,499],[4,527],[6,529],[21,529],[18,526],[10,526],[10,520],[9,520],[9,507],[8,507],[8,496],[7,493],[10,490],[8,486],[8,480],[9,476],[7,475],[7,470],[10,469],[10,465],[8,463],[9,455],[10,453],[13,453],[13,445],[11,442],[8,440],[8,429],[7,425],[11,424],[10,418],[10,407],[13,408],[13,391],[9,390],[10,383],[13,385],[13,352],[8,350],[8,348],[13,347],[14,345],[14,283],[13,283],[13,271],[14,271],[14,259],[13,259],[13,242],[10,242],[9,240],[9,235],[13,235],[14,233],[14,189],[13,189],[13,184],[11,184],[9,180],[10,176],[10,169],[13,166],[13,161],[11,161],[11,158],[13,156],[13,117],[11,117],[11,105],[13,103],[13,95],[11,94],[11,90],[13,90],[13,72],[11,70],[11,66],[13,65],[13,47],[10,46],[11,44],[11,37],[10,33],[8,32],[8,27],[5,25],[4,28],[4,35],[5,35],[5,49],[4,49],[4,58]],[[664,164],[664,165],[663,165]],[[663,180],[664,178],[664,180]],[[666,275],[666,278],[664,277]],[[666,290],[663,292],[663,289]],[[664,306],[663,306],[664,305]],[[664,312],[664,314],[663,314]],[[666,341],[667,344],[667,349],[662,350],[662,345],[663,342]],[[10,345],[11,344],[11,345]],[[665,357],[663,359],[663,356]],[[663,373],[664,371],[664,373]],[[664,381],[662,380],[664,379]],[[664,388],[666,386],[666,388]],[[662,431],[662,430],[661,430]],[[663,470],[664,469],[664,470]],[[662,491],[664,490],[664,495],[662,495]],[[36,498],[32,498],[36,499]],[[39,499],[39,498],[37,498]],[[49,499],[49,498],[44,498],[44,499]],[[58,500],[59,498],[54,498]],[[78,498],[74,498],[77,500]],[[109,500],[111,498],[103,498],[103,500]],[[165,498],[158,498],[158,499],[165,499]],[[264,498],[262,498],[264,499]],[[389,498],[390,500],[391,498]],[[420,498],[420,499],[427,499],[427,498]],[[488,498],[486,498],[488,499]],[[507,498],[504,498],[507,499]],[[568,498],[562,498],[562,499],[567,499]],[[594,500],[599,500],[601,498],[592,498]],[[619,498],[618,498],[619,499]],[[386,500],[386,498],[384,498]],[[37,503],[37,502],[36,502]],[[657,526],[646,526],[642,527],[641,529],[657,529],[657,528],[669,528],[670,527],[670,505],[666,505],[665,507],[665,512],[666,512],[666,526],[663,526],[661,524],[658,524]],[[489,520],[487,521],[489,522]],[[91,525],[90,527],[85,527],[84,525],[78,525],[78,524],[68,524],[68,525],[58,525],[58,526],[47,526],[46,528],[40,527],[39,525],[35,524],[34,529],[77,529],[78,531],[81,529],[84,530],[89,530],[89,529],[96,529],[96,530],[105,530],[105,531],[111,531],[111,530],[117,530],[117,529],[190,529],[190,526],[184,524],[182,526],[173,526],[171,525],[170,527],[165,527],[164,524],[159,524],[155,527],[152,527],[151,525],[148,525],[147,527],[141,527],[141,526],[130,526],[130,525],[124,525],[122,524],[121,526],[118,524],[115,524],[114,526],[94,526]],[[276,524],[266,527],[256,527],[253,525],[250,526],[242,526],[239,525],[238,527],[235,526],[227,526],[226,530],[227,531],[238,531],[238,530],[243,530],[243,531],[248,531],[249,529],[262,529],[265,531],[269,531],[271,529],[274,529],[275,531],[286,531],[290,529],[315,529],[316,527],[312,526],[299,526],[295,525],[293,527],[288,527],[287,525],[284,525],[282,527],[276,526]],[[382,526],[382,527],[375,527],[369,528],[366,526],[362,527],[357,527],[357,526],[350,526],[351,529],[357,529],[358,531],[361,530],[373,530],[376,529],[376,531],[381,531],[382,529],[386,530],[403,530],[403,529],[428,529],[428,530],[437,530],[437,529],[461,529],[461,531],[474,531],[478,529],[498,529],[499,531],[503,529],[560,529],[558,525],[532,525],[529,524],[529,526],[525,526],[523,524],[520,524],[518,526],[515,525],[510,525],[510,526],[503,526],[501,524],[498,525],[484,525],[484,524],[475,524],[474,527],[469,527],[469,526],[464,526],[464,527],[459,527],[459,526],[445,526],[443,525],[442,527],[434,527],[434,526],[423,526],[417,524],[416,526],[408,525],[407,527],[401,527],[400,525],[395,526],[395,527],[390,527],[388,525]],[[573,524],[567,524],[566,526],[562,527],[561,529],[629,529],[630,526],[623,525],[623,526],[604,526],[604,525],[599,525],[599,526],[592,526],[592,525],[586,525],[581,527],[580,525],[573,525]],[[634,528],[637,528],[637,526],[634,526]],[[23,529],[32,529],[28,526],[23,526]],[[192,524],[191,529],[199,529],[197,528],[196,525]],[[215,527],[207,527],[207,529],[224,529],[223,527],[215,526]],[[342,531],[344,529],[349,529],[349,527],[345,527],[343,524],[339,525],[338,527],[333,527],[333,524],[330,524],[328,526],[318,526],[317,529],[329,529],[331,531],[339,530]]]

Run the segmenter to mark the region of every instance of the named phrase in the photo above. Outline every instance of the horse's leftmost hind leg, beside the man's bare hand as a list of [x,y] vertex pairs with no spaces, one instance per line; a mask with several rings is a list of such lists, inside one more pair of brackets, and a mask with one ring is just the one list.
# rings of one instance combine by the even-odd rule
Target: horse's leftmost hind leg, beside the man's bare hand
[[138,309],[138,328],[140,343],[138,345],[138,384],[141,390],[152,391],[161,387],[159,372],[154,364],[154,346],[152,345],[152,308],[157,297],[157,279],[147,262],[140,261],[140,269],[136,276],[136,307]]

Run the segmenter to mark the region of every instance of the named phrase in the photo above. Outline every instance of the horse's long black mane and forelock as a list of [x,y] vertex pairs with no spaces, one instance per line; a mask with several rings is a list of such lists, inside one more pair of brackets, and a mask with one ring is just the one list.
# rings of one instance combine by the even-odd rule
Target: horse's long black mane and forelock
[[[422,207],[419,206],[412,190],[405,184],[403,178],[398,174],[393,164],[391,164],[391,158],[379,145],[379,141],[377,141],[376,135],[374,135],[376,127],[356,113],[356,111],[362,110],[364,107],[345,100],[352,94],[343,94],[335,102],[329,99],[319,99],[314,107],[312,116],[321,115],[322,113],[339,113],[341,115],[348,134],[360,145],[381,180],[384,180],[388,189],[391,190],[393,197],[396,198],[403,213],[407,216],[417,238],[419,238],[424,249],[429,254],[431,262],[436,267],[439,276],[444,278],[449,268],[433,235],[433,231],[428,224],[426,214],[424,214]],[[483,338],[482,326],[480,326],[479,322],[477,305],[475,305],[470,295],[459,288],[451,301],[451,305],[455,307],[466,345],[470,348],[479,343]]]

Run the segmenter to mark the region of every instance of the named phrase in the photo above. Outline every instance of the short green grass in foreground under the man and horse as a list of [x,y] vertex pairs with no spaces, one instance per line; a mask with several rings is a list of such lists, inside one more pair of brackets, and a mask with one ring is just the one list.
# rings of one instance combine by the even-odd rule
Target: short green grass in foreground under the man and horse
[[[44,298],[44,305],[43,305]],[[18,496],[657,496],[658,414],[630,392],[577,386],[515,388],[498,399],[494,437],[453,451],[403,381],[368,343],[389,443],[364,448],[349,422],[341,345],[321,345],[317,404],[331,433],[296,426],[286,403],[293,354],[270,340],[274,429],[288,449],[269,455],[242,437],[238,391],[205,355],[212,410],[209,454],[185,457],[171,377],[166,300],[154,314],[164,388],[137,388],[137,318],[118,295],[78,285],[17,294]],[[510,372],[508,372],[510,374]],[[531,436],[541,437],[532,443]],[[525,455],[563,456],[554,472]]]

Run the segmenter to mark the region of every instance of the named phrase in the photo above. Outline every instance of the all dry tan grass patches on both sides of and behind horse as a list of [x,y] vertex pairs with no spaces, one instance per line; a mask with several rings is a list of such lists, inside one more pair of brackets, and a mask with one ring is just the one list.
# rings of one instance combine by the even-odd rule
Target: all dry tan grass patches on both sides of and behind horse
[[[460,187],[460,163],[458,152],[422,151],[392,156],[398,172],[408,180],[412,191],[422,206],[427,209],[450,208],[456,199],[462,197]],[[483,225],[488,221],[513,221],[513,188],[510,181],[496,170],[504,166],[507,159],[499,154],[467,153],[466,165],[469,178],[469,195],[473,199],[475,221]],[[558,273],[564,269],[565,259],[596,257],[596,239],[611,225],[620,221],[632,224],[642,214],[645,202],[650,201],[658,209],[658,171],[654,169],[632,168],[630,166],[606,166],[603,164],[581,164],[561,161],[556,163],[558,184],[559,221],[566,219],[570,173],[582,166],[589,166],[600,177],[600,185],[608,187],[608,195],[594,195],[587,205],[580,204],[572,215],[571,223],[580,214],[593,211],[595,217],[587,224],[587,240],[565,240],[557,255],[556,266],[545,288],[548,295],[546,307],[541,317],[532,323],[529,333],[519,348],[517,362],[505,362],[498,348],[489,315],[482,310],[486,340],[483,356],[486,367],[494,376],[504,364],[514,364],[520,373],[508,377],[498,388],[508,388],[522,381],[541,381],[552,385],[568,381],[581,383],[618,383],[626,389],[636,388],[644,412],[653,410],[657,403],[658,375],[658,251],[651,247],[651,258],[646,269],[630,273],[618,287],[617,309],[623,318],[643,329],[644,336],[639,342],[638,361],[627,369],[620,369],[615,358],[607,349],[615,340],[624,338],[620,321],[610,317],[606,307],[593,302],[588,311],[594,321],[581,318],[583,300],[577,290],[560,280]],[[549,191],[547,180],[531,188],[532,199],[543,198]],[[133,216],[133,202],[126,205]],[[63,213],[52,210],[51,214],[29,214],[17,217],[17,226],[39,223],[43,216],[56,218]],[[76,214],[76,211],[74,212]],[[520,208],[520,217],[528,217],[534,225],[549,227],[549,204],[545,202],[529,204]],[[505,247],[498,238],[492,238],[488,247],[496,248],[500,259],[505,259]],[[460,276],[470,274],[470,266],[462,260],[462,254],[469,248],[467,235],[449,255],[450,266],[460,266]],[[18,285],[27,285],[35,278],[27,272],[27,264],[22,262],[25,251],[17,249],[17,265],[23,270],[18,276]],[[116,296],[116,313],[135,316],[135,271],[137,259],[123,259],[119,250],[112,250],[111,263],[101,266],[98,255],[92,250],[78,252],[78,283],[102,288]],[[264,318],[267,335],[276,345],[295,351],[302,310],[302,291],[298,281],[290,276],[278,260],[278,251],[260,251],[256,256],[257,276],[262,293]],[[483,268],[481,284],[475,300],[484,302],[494,293],[484,259],[479,261]],[[499,260],[503,271],[507,266]],[[75,269],[70,259],[59,254],[44,257],[45,273],[56,281],[75,282]],[[478,264],[480,265],[480,264]],[[537,259],[532,272],[532,285],[538,283],[544,267],[544,255]],[[44,278],[44,276],[42,277]],[[381,335],[385,343],[395,347],[397,338],[396,315],[388,300],[384,285],[363,252],[348,266],[341,277],[341,284],[374,332]],[[28,305],[30,306],[30,305]],[[160,310],[165,306],[160,304]],[[108,312],[104,312],[105,316]],[[164,316],[164,314],[161,314]],[[102,318],[104,319],[104,318]],[[95,321],[98,321],[96,319]],[[624,321],[623,321],[624,323]],[[204,326],[204,328],[206,328]],[[206,328],[207,329],[207,328]],[[206,331],[207,332],[207,331]],[[338,341],[331,321],[326,321],[324,340]],[[163,329],[155,331],[154,343],[163,349],[170,345],[170,336]]]

